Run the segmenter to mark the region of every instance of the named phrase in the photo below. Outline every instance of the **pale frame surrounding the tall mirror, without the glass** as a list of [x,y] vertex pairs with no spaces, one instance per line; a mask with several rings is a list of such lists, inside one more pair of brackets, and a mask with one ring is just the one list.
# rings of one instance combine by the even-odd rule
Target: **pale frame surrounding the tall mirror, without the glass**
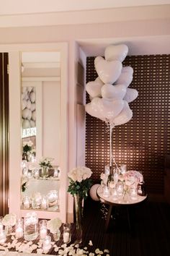
[[61,53],[61,189],[60,212],[38,211],[38,218],[61,218],[66,222],[68,187],[68,43],[36,43],[1,45],[0,52],[9,53],[9,213],[25,216],[20,210],[22,161],[21,139],[21,61],[22,51],[60,51]]

